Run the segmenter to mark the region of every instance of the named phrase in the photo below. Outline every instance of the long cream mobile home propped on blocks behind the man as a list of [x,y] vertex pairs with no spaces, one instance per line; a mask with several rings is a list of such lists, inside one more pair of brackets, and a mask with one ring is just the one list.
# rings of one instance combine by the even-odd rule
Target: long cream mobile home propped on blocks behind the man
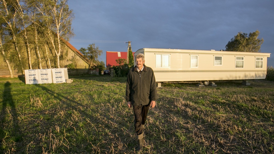
[[265,79],[270,53],[142,48],[156,82]]

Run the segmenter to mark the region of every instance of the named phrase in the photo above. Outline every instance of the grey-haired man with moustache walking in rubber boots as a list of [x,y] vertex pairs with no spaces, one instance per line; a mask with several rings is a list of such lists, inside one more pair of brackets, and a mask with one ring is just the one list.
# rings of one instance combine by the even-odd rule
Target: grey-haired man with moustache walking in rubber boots
[[135,56],[136,66],[129,70],[126,81],[126,101],[129,108],[133,106],[134,128],[139,142],[137,151],[143,150],[146,116],[149,107],[155,107],[157,99],[154,72],[144,65],[144,59],[144,54]]

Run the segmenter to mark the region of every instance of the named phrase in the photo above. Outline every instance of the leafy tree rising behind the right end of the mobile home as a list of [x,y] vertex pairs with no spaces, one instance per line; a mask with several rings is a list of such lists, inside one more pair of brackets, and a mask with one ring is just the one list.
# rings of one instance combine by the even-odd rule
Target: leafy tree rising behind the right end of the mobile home
[[240,52],[260,52],[263,38],[258,38],[260,32],[257,30],[253,33],[239,32],[234,38],[226,44],[226,51],[240,51]]

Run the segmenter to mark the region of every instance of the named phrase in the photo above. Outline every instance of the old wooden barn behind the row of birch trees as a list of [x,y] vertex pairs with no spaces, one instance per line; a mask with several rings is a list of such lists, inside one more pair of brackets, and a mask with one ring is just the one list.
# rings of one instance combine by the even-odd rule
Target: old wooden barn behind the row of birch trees
[[[86,59],[83,54],[81,52],[79,52],[74,46],[72,46],[68,41],[62,39],[62,56],[61,56],[61,60],[60,60],[60,67],[66,67],[69,64],[72,63],[72,61],[74,61],[74,63],[76,64],[76,68],[78,70],[84,70],[84,71],[88,71],[89,68],[89,60]],[[10,49],[14,49],[13,46],[9,47]],[[21,44],[19,46],[20,51],[21,51],[21,55],[23,57],[23,62],[25,64],[25,66],[23,66],[24,69],[29,69],[28,65],[27,65],[27,52],[26,52],[26,48],[23,44]],[[51,50],[51,46],[50,45],[43,45],[40,46],[40,54],[41,54],[41,65],[42,68],[39,68],[39,64],[38,64],[38,56],[37,56],[37,52],[35,51],[35,47],[33,44],[31,44],[31,62],[32,62],[32,69],[45,69],[45,68],[57,68],[56,66],[56,58],[55,58],[55,52],[53,50]],[[13,51],[9,51],[8,53],[12,53]],[[74,59],[73,59],[74,57]],[[73,60],[72,60],[73,59]],[[92,64],[94,65],[94,64]],[[9,69],[7,66],[7,63],[5,62],[5,60],[3,59],[2,56],[0,56],[0,76],[9,76]],[[77,71],[78,71],[77,70]],[[75,70],[74,70],[75,71]],[[22,75],[21,72],[17,72],[16,68],[14,68],[14,75]]]

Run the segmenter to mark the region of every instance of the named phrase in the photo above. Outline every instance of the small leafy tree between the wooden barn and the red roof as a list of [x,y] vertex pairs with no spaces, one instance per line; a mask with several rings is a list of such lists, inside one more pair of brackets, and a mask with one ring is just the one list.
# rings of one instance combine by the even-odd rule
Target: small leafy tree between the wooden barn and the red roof
[[98,46],[95,47],[95,43],[89,44],[87,48],[80,48],[79,51],[90,61],[89,68],[92,68],[92,63],[96,63],[98,56],[103,52]]

